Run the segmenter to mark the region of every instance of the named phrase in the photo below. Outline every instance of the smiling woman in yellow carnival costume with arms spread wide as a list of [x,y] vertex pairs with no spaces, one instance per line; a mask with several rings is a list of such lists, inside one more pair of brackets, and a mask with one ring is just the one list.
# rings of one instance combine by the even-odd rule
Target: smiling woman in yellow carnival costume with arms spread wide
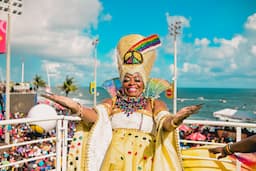
[[184,107],[172,115],[156,99],[169,88],[167,81],[149,79],[160,44],[157,35],[122,37],[117,46],[121,88],[94,108],[64,96],[43,95],[82,118],[70,145],[69,171],[183,169],[175,130],[201,106]]

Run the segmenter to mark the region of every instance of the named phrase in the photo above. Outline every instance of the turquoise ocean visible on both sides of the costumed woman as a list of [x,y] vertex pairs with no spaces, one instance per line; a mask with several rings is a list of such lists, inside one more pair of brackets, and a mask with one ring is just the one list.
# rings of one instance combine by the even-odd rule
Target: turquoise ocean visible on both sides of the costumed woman
[[[61,94],[60,90],[53,89],[54,93]],[[108,92],[97,88],[97,103],[109,98]],[[70,93],[69,97],[79,100],[86,106],[93,105],[93,95],[89,94],[88,87],[80,87],[78,91]],[[166,98],[165,94],[160,99],[166,102],[170,111],[173,110],[173,100]],[[177,110],[184,106],[203,103],[202,109],[190,117],[190,119],[218,120],[213,117],[213,112],[232,108],[250,111],[256,114],[256,89],[230,89],[230,88],[178,88]]]

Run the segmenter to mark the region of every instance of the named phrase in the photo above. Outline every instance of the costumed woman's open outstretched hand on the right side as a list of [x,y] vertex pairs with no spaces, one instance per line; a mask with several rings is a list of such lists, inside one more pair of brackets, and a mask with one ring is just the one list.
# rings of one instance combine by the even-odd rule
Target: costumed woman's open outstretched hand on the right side
[[173,124],[180,125],[184,119],[190,115],[197,113],[202,108],[202,105],[187,106],[179,110],[176,115],[173,116]]

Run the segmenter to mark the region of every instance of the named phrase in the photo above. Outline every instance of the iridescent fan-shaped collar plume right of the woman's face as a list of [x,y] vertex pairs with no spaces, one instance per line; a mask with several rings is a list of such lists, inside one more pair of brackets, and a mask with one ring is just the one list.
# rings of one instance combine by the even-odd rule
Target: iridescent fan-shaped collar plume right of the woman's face
[[145,96],[151,98],[158,98],[163,91],[167,90],[170,87],[171,84],[167,80],[163,80],[160,78],[150,78],[147,83]]

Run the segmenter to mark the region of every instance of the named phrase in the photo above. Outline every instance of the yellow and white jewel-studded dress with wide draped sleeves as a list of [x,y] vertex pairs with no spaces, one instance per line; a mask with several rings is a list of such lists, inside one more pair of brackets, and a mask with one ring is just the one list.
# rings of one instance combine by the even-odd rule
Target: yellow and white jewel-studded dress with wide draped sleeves
[[[176,131],[173,129],[166,132],[162,129],[162,122],[169,112],[161,111],[154,119],[143,114],[143,111],[137,111],[131,118],[124,118],[122,113],[113,115],[112,118],[106,106],[98,105],[96,110],[99,119],[91,130],[86,133],[86,127],[80,126],[80,134],[74,136],[76,142],[73,140],[70,146],[69,171],[182,170]],[[130,123],[130,119],[138,120],[136,117],[142,119],[137,123]],[[102,118],[106,120],[101,121]],[[152,125],[148,126],[150,122]],[[98,129],[99,124],[110,126],[101,126]],[[93,137],[94,134],[99,135]],[[105,140],[107,135],[111,138]],[[92,166],[94,164],[97,166]]]

